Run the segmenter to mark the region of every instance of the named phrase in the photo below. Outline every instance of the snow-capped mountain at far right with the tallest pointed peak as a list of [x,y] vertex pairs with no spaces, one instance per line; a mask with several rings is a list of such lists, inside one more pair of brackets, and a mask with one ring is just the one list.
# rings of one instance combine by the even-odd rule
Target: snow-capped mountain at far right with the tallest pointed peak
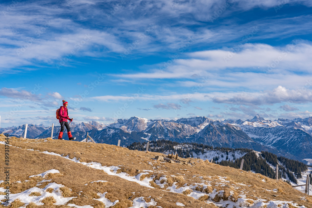
[[[301,159],[312,157],[312,118],[266,120],[256,115],[239,126],[254,141],[295,155]],[[310,130],[310,131],[309,131]]]

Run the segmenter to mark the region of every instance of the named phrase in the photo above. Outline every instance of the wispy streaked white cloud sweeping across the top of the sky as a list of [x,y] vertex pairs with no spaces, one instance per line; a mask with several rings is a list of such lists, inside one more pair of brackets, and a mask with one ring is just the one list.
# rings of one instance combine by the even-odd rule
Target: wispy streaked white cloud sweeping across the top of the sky
[[[67,0],[62,2],[62,5],[55,4],[51,0],[18,2],[18,5],[5,13],[5,21],[0,23],[1,40],[10,45],[10,47],[0,47],[0,64],[2,70],[42,63],[55,64],[55,62],[59,63],[66,59],[65,56],[71,51],[75,51],[73,56],[119,56],[119,54],[127,51],[135,41],[139,41],[139,44],[135,44],[135,47],[130,49],[129,56],[155,51],[174,50],[180,52],[181,49],[184,53],[190,44],[201,46],[203,43],[232,41],[241,38],[246,32],[246,27],[248,28],[250,25],[248,23],[243,26],[227,24],[226,27],[218,26],[208,30],[207,27],[202,27],[202,22],[198,22],[209,21],[210,15],[207,14],[217,12],[225,3],[225,0],[183,2],[175,0],[142,2],[135,0],[131,2],[108,1],[105,3],[106,7],[103,7],[102,5],[99,6],[103,2],[98,0]],[[312,6],[308,0],[290,0],[289,3]],[[254,7],[270,8],[279,4],[279,1],[273,0],[234,0],[233,4],[225,12],[222,12],[222,15],[227,17],[232,12],[246,11]],[[1,6],[5,11],[6,7],[10,6],[10,2],[2,3]],[[116,10],[116,8],[115,14],[111,14],[111,11]],[[36,12],[32,12],[34,9]],[[146,11],[148,12],[146,13]],[[142,18],[142,13],[147,15]],[[157,17],[162,17],[163,22],[159,23]],[[301,23],[303,20],[304,24],[310,22],[307,21],[310,17],[295,18],[300,19]],[[262,32],[270,34],[289,31],[289,22],[291,22],[284,18],[284,22],[276,24],[275,21],[274,25],[268,27],[268,23],[263,23],[263,21],[266,20],[259,20],[252,22],[252,24],[260,25],[263,27],[261,28]],[[85,22],[110,29],[85,29]],[[172,22],[178,22],[183,26],[196,25],[198,27],[193,30],[188,27],[178,27]],[[151,24],[153,25],[152,28]],[[276,28],[281,27],[284,28],[278,32],[272,32],[272,28],[276,30]],[[306,28],[306,31],[309,30],[307,28],[310,28],[309,25],[302,26],[300,24],[294,24],[294,27],[293,31],[298,32],[301,28]],[[300,34],[303,32],[301,30]],[[90,34],[92,37],[77,50],[76,43],[84,41],[86,34]],[[142,34],[144,38],[138,38]],[[262,35],[268,36],[268,34]],[[282,35],[286,36],[287,34],[283,33]],[[26,52],[17,54],[17,50],[21,51],[21,49],[26,50]],[[218,53],[217,50],[213,52]],[[65,62],[65,65],[71,64],[71,60]],[[198,65],[205,63],[209,62],[196,62]],[[170,73],[158,76],[169,75]],[[187,76],[187,73],[185,75]]]

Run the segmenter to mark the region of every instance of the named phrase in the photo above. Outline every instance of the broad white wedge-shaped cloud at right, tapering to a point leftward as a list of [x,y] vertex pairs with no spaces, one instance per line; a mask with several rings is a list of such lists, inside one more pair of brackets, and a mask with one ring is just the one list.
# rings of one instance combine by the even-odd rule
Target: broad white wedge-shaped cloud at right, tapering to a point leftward
[[[188,54],[189,58],[175,59],[169,62],[170,64],[167,63],[168,67],[165,70],[155,69],[148,73],[140,72],[118,76],[136,79],[177,79],[190,78],[193,74],[213,73],[216,70],[233,68],[251,71],[250,68],[253,67],[255,68],[253,71],[263,74],[279,71],[310,72],[312,60],[309,54],[311,53],[311,43],[296,42],[296,44],[289,44],[282,48],[267,44],[246,43],[235,52],[228,49],[193,52]],[[166,63],[159,64],[159,66],[166,66]]]

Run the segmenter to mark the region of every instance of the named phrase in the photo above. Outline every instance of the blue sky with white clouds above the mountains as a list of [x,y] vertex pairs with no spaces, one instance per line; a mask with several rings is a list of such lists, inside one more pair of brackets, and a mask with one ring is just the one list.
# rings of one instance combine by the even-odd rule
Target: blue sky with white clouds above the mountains
[[307,118],[309,0],[0,3],[1,127]]

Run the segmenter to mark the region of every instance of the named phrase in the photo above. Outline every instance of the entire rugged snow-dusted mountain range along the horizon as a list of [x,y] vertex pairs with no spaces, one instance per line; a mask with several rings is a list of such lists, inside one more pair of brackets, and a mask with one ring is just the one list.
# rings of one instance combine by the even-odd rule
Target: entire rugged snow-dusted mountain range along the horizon
[[[25,125],[1,129],[10,136],[20,137]],[[53,135],[60,129],[54,127]],[[178,120],[148,120],[131,117],[118,119],[115,123],[90,121],[71,122],[71,133],[78,141],[86,133],[97,143],[128,146],[134,142],[166,139],[174,142],[194,142],[213,147],[252,148],[268,151],[284,157],[298,159],[312,158],[312,117],[306,119],[266,120],[256,115],[253,119],[213,120],[207,117],[182,118]],[[28,125],[27,138],[51,137],[51,127]],[[67,134],[63,136],[67,139]]]

